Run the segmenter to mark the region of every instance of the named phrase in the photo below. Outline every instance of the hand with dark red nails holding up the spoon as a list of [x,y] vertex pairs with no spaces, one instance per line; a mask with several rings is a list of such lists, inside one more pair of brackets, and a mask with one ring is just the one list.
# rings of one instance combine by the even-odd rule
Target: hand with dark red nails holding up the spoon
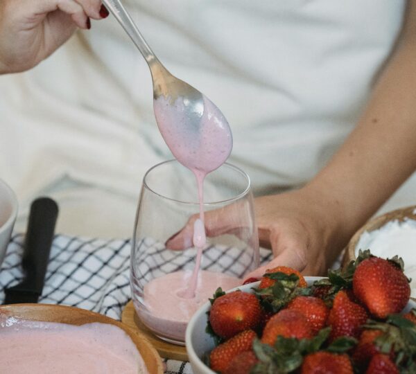
[[1,0],[0,73],[31,69],[90,18],[103,19],[101,0]]

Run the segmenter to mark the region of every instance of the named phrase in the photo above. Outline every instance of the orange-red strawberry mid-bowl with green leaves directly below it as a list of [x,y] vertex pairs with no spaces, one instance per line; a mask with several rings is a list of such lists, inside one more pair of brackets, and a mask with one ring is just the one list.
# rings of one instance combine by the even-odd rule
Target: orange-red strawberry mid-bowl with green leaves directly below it
[[273,346],[279,335],[297,339],[313,337],[311,326],[304,314],[287,309],[281,310],[266,323],[261,342]]

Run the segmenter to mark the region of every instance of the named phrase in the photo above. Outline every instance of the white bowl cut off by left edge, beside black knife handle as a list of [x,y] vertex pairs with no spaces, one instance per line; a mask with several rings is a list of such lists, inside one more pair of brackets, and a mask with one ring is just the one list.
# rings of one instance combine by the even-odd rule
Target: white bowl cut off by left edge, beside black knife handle
[[0,265],[17,216],[17,199],[12,189],[0,179]]

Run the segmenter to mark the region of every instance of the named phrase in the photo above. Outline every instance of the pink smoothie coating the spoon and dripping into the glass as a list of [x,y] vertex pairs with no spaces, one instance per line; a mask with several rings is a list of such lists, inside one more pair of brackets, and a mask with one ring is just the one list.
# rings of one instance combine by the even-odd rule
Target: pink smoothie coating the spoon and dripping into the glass
[[206,244],[204,219],[204,179],[219,168],[232,150],[232,134],[227,120],[219,109],[204,96],[204,112],[199,123],[186,116],[184,102],[177,98],[173,105],[170,98],[160,96],[153,103],[157,126],[173,156],[193,172],[198,185],[200,217],[194,224],[193,245],[198,249],[196,265],[189,287],[177,296],[184,299],[195,297],[202,251]]

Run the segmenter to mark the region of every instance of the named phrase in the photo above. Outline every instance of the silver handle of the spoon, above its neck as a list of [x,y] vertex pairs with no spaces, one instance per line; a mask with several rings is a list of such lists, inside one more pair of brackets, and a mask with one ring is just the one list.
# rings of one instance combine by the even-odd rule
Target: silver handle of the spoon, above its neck
[[129,13],[123,7],[123,4],[120,0],[103,0],[105,7],[110,10],[112,15],[119,21],[119,24],[124,28],[125,32],[128,33],[128,36],[132,39],[133,43],[136,44],[139,48],[140,53],[148,62],[149,66],[153,62],[157,62],[157,57],[150,49],[150,46],[146,43],[144,37],[141,36],[139,29],[137,28],[135,22],[130,17]]

